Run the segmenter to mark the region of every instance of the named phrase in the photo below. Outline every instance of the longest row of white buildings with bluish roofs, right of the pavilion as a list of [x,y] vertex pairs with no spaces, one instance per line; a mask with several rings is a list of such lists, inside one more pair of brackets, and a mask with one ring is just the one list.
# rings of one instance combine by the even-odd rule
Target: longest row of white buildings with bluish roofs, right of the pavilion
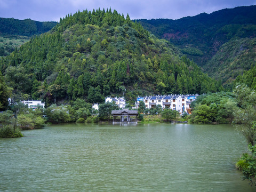
[[137,102],[135,102],[135,108],[138,109],[139,102],[145,102],[146,108],[155,108],[160,105],[163,109],[170,108],[172,110],[177,110],[179,113],[191,113],[190,104],[196,99],[198,94],[171,94],[171,95],[157,95],[148,97],[137,97]]

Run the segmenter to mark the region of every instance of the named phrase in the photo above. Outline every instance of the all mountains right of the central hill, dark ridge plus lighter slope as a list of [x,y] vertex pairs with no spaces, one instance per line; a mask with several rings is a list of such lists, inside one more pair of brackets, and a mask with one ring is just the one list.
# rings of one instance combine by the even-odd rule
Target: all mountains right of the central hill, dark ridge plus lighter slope
[[189,59],[203,67],[211,77],[221,79],[223,84],[233,82],[244,70],[255,65],[255,5],[178,20],[137,21],[157,37],[178,46]]

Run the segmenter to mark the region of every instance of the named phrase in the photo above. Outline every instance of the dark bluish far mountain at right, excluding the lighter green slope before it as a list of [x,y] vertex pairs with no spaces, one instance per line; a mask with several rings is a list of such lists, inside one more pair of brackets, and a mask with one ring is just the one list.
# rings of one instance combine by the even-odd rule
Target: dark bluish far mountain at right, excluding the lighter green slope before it
[[[223,79],[223,83],[228,83],[226,82],[228,78],[218,75],[219,70],[214,70],[211,67],[219,65],[219,63],[213,63],[213,61],[220,59],[217,58],[220,47],[229,41],[235,41],[235,39],[256,37],[255,5],[224,9],[211,14],[201,13],[195,17],[178,20],[137,21],[157,37],[168,39],[178,46],[189,59],[193,59],[199,66],[203,67],[211,77]],[[251,49],[251,47],[248,47],[248,49]],[[252,52],[252,50],[249,50],[249,52]],[[227,63],[228,60],[223,62]],[[217,68],[221,69],[221,66]],[[239,73],[243,73],[243,70],[247,69],[243,66],[238,68],[242,69]],[[232,71],[233,69],[228,70]],[[236,76],[239,73],[235,71]],[[236,76],[232,78],[234,79]]]

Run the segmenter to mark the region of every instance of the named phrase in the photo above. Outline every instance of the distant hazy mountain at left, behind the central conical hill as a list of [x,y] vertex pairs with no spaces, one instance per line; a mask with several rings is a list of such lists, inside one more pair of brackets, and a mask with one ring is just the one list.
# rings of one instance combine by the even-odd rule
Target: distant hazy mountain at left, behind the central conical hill
[[31,19],[0,18],[0,57],[6,56],[29,41],[33,35],[51,30],[57,22],[39,22]]

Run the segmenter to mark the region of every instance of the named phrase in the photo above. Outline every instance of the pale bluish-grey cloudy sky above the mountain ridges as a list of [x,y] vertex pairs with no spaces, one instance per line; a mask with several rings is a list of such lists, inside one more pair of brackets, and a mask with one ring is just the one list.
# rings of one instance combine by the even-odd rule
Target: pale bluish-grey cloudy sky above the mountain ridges
[[131,19],[180,19],[236,6],[256,5],[256,0],[0,0],[0,17],[59,21],[78,10],[129,13]]

